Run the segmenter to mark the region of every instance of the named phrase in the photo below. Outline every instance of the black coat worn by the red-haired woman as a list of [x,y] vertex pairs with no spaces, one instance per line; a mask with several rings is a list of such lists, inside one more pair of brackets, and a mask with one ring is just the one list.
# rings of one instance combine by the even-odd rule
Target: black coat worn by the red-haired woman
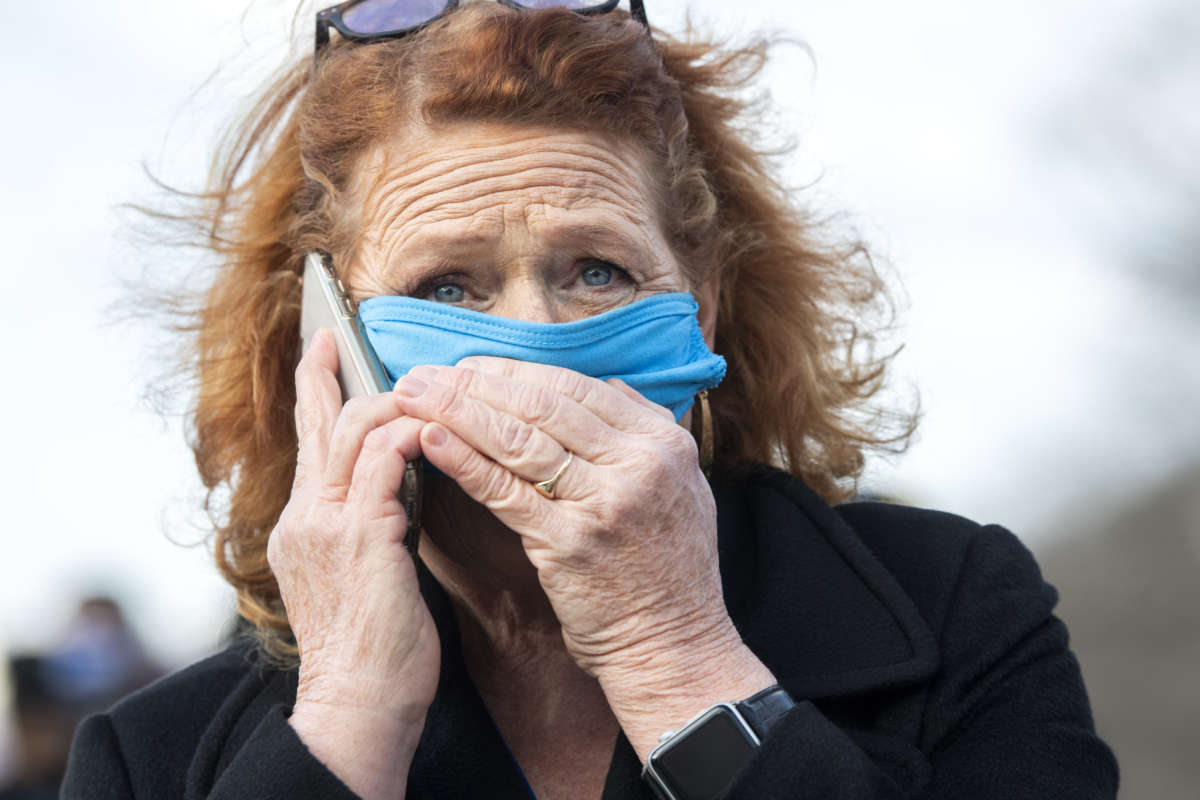
[[[901,506],[830,509],[767,469],[714,491],[730,614],[799,703],[728,798],[1116,795],[1055,590],[1012,534]],[[408,796],[528,799],[448,600],[421,572],[443,664]],[[288,724],[295,688],[295,672],[234,645],[86,720],[62,796],[354,798]],[[619,736],[605,800],[650,798],[640,770]]]

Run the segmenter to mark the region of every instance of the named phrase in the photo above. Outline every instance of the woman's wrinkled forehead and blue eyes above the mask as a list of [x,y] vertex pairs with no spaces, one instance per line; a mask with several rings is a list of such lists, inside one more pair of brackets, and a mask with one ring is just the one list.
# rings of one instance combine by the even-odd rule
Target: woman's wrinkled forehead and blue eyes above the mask
[[589,133],[496,124],[408,133],[365,158],[352,192],[362,233],[350,291],[541,323],[665,291],[692,290],[704,306],[648,186],[637,152]]

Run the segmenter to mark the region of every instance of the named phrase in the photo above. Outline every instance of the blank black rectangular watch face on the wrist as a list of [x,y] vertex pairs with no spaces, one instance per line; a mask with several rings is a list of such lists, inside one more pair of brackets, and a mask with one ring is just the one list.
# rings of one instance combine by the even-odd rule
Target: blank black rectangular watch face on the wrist
[[654,769],[680,800],[715,800],[750,760],[751,736],[732,709],[718,705],[660,748]]

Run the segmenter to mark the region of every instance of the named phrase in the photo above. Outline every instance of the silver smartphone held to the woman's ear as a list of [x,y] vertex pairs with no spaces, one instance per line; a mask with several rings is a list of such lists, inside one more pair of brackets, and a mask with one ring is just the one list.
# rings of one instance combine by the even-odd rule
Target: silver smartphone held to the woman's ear
[[[364,395],[380,395],[391,391],[391,379],[379,356],[367,339],[366,329],[359,318],[359,309],[337,277],[334,259],[329,253],[313,251],[305,257],[302,297],[300,301],[300,347],[308,350],[313,335],[322,327],[334,332],[337,342],[337,384],[342,387],[342,402]],[[404,469],[404,482],[397,498],[408,516],[404,531],[404,549],[416,557],[421,536],[421,489],[424,470],[421,459],[414,459]]]

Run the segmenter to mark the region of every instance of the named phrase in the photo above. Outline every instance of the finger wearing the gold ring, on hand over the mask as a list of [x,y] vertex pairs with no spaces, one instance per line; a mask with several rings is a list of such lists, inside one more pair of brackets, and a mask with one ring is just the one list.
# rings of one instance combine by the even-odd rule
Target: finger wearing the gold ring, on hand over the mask
[[[396,383],[397,402],[409,416],[440,422],[472,449],[526,481],[547,480],[566,461],[563,444],[538,426],[470,397],[460,386],[422,374],[426,380],[409,373]],[[581,470],[588,469],[583,456],[580,461]]]

